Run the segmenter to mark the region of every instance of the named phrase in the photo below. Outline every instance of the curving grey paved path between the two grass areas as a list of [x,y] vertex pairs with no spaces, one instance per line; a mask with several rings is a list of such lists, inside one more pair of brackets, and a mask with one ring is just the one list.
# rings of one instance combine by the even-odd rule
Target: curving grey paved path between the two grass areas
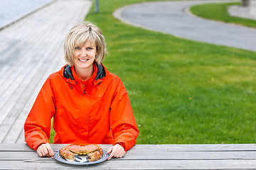
[[256,52],[256,29],[209,21],[188,12],[190,6],[210,2],[220,1],[146,2],[119,8],[114,16],[134,26],[181,38]]

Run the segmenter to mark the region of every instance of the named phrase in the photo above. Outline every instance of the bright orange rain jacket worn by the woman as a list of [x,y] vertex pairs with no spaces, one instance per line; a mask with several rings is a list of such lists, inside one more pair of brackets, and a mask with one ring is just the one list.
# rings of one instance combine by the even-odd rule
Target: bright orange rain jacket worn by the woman
[[51,118],[54,143],[119,143],[127,151],[139,135],[124,84],[102,64],[86,81],[68,65],[48,77],[24,125],[32,149],[49,142]]

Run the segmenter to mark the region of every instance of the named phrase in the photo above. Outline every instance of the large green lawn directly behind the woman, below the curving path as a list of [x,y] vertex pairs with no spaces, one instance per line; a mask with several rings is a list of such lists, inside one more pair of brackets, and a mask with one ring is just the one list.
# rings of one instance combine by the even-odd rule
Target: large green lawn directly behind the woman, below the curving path
[[112,16],[135,2],[100,1],[100,13],[92,6],[86,20],[102,29],[104,64],[127,88],[137,144],[255,143],[255,52],[134,28]]

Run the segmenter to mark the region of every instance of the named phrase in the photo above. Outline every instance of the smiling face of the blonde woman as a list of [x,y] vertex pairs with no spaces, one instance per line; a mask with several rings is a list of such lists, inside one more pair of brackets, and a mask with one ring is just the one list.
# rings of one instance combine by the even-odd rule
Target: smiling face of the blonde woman
[[85,42],[81,47],[75,47],[75,72],[91,72],[93,69],[93,62],[95,61],[96,55],[97,47],[90,41]]

